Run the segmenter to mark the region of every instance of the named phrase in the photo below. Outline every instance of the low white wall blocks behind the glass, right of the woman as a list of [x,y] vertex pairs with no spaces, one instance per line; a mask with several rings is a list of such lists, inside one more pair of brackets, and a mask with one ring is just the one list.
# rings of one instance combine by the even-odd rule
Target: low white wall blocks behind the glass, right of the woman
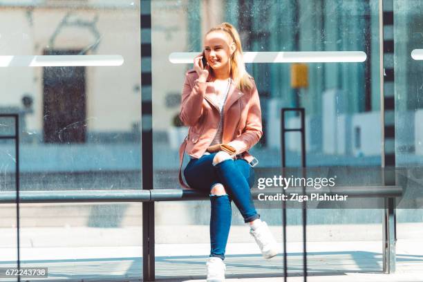
[[[267,113],[265,113],[268,120],[267,140],[269,146],[274,149],[279,149],[281,146],[280,108],[279,100],[270,99]],[[350,115],[343,113],[344,109],[346,109],[346,100],[341,91],[330,90],[323,93],[322,117],[306,115],[306,151],[323,151],[330,155],[344,156],[380,156],[382,152],[380,112]],[[300,118],[288,118],[286,126],[287,128],[299,128]],[[360,146],[358,148],[355,147],[356,128],[360,130]],[[301,150],[299,133],[286,133],[285,137],[288,150]]]

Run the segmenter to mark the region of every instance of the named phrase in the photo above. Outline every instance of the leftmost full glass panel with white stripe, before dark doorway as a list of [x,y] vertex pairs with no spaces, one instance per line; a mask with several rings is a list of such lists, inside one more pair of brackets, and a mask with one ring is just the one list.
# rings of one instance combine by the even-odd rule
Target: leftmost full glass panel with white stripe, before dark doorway
[[[21,193],[141,189],[140,1],[2,2],[0,113],[19,114]],[[140,279],[139,203],[26,204],[20,216],[22,266]]]

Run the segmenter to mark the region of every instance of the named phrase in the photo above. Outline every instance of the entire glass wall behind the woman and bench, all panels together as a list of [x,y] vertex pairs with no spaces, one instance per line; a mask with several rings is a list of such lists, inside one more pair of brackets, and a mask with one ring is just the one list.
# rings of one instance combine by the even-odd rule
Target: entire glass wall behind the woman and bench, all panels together
[[[337,186],[382,185],[382,130],[393,134],[395,140],[386,143],[395,141],[397,185],[404,188],[396,210],[397,269],[408,270],[410,261],[422,261],[414,247],[421,245],[423,234],[420,0],[384,1],[393,3],[393,11],[380,11],[379,0],[150,3],[154,189],[180,189],[178,149],[188,133],[178,114],[185,73],[193,66],[171,62],[169,56],[200,54],[213,26],[232,23],[245,53],[361,52],[366,59],[359,62],[340,56],[334,62],[246,64],[259,91],[263,118],[263,137],[250,150],[259,160],[256,183],[259,178],[304,173],[298,169],[300,133],[286,133],[286,150],[281,151],[282,109],[305,111],[307,176],[335,177]],[[149,42],[140,42],[140,12],[140,1],[131,0],[1,1],[0,114],[19,114],[22,192],[142,189],[140,44]],[[380,15],[386,24],[383,42]],[[384,92],[392,93],[383,101],[381,44]],[[111,64],[109,56],[118,56],[119,62]],[[42,58],[53,61],[37,65]],[[76,58],[84,63],[73,64]],[[301,73],[306,73],[301,84],[294,83]],[[395,117],[395,124],[382,129],[382,116]],[[289,129],[300,122],[299,113],[285,115]],[[0,118],[0,136],[13,133],[13,120]],[[290,169],[281,168],[282,156]],[[188,160],[185,155],[182,169]],[[16,163],[14,141],[0,140],[0,191],[12,197]],[[204,279],[210,252],[209,200],[156,202],[154,207],[156,278]],[[256,207],[282,250],[281,208],[259,201]],[[303,218],[301,205],[294,207],[287,211],[286,240],[288,272],[298,276],[303,270]],[[366,198],[356,199],[353,208],[343,203],[309,207],[310,274],[382,271],[383,209]],[[21,204],[21,267],[48,267],[49,279],[141,279],[141,217],[141,203]],[[0,267],[13,267],[16,205],[0,205],[0,218]],[[281,276],[283,257],[265,261],[248,233],[232,205],[227,278]]]

